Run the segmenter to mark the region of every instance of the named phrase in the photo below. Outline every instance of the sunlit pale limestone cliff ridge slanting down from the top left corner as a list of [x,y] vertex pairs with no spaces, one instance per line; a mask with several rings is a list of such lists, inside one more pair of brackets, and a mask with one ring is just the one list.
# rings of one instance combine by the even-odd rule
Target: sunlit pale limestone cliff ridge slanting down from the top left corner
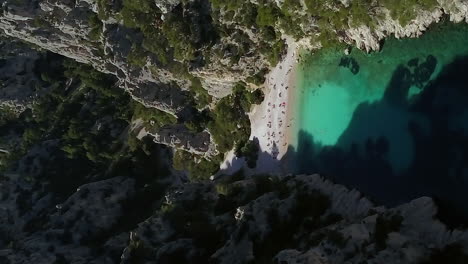
[[[187,93],[183,90],[188,82],[161,68],[151,72],[147,67],[129,65],[126,57],[131,43],[127,37],[138,35],[115,21],[93,25],[96,1],[5,0],[0,4],[0,28],[5,34],[117,76],[121,86],[147,106],[172,114],[185,107]],[[94,33],[97,38],[91,36],[93,30],[98,31]]]

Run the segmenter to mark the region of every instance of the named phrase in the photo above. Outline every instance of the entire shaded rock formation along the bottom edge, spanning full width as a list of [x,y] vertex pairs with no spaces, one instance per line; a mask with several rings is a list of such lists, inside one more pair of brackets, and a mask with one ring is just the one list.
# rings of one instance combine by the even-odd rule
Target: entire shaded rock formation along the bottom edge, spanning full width
[[429,198],[376,207],[318,175],[226,183],[172,189],[151,217],[119,232],[135,195],[129,178],[88,183],[60,204],[24,179],[3,179],[0,261],[420,263],[447,246],[466,250],[468,232],[435,219]]

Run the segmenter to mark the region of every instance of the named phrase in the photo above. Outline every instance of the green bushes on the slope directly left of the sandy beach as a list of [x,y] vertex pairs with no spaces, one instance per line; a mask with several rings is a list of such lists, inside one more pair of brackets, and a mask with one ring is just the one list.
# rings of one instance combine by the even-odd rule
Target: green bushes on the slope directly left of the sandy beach
[[[194,79],[197,82],[197,79]],[[196,84],[196,83],[195,83]],[[212,112],[197,112],[185,126],[193,132],[201,132],[206,127],[210,131],[221,153],[236,149],[239,156],[245,156],[250,167],[255,167],[258,145],[249,141],[250,120],[247,112],[252,104],[263,101],[261,90],[250,92],[243,83],[234,88],[233,94],[221,99]],[[174,154],[173,166],[189,173],[193,181],[206,180],[219,170],[223,155],[207,159],[184,151]]]

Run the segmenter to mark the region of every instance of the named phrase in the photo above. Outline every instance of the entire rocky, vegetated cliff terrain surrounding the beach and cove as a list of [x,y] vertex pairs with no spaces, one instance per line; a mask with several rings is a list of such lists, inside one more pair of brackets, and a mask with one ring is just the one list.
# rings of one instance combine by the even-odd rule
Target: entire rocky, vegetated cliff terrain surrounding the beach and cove
[[[430,198],[385,208],[318,175],[238,173],[187,183],[159,164],[171,153],[144,140],[151,135],[211,155],[206,127],[228,120],[212,130],[232,149],[234,136],[244,136],[234,132],[250,131],[234,121],[249,109],[244,97],[251,93],[228,95],[239,81],[261,86],[285,38],[317,47],[333,36],[371,51],[392,34],[416,37],[444,15],[467,17],[464,1],[412,6],[418,12],[409,21],[379,1],[364,9],[358,0],[312,2],[0,0],[5,34],[114,76],[148,107],[132,118],[126,94],[81,65],[56,81],[35,115],[21,117],[15,132],[29,143],[21,146],[27,153],[0,176],[0,263],[431,263],[440,256],[468,262],[467,231],[442,223]],[[52,83],[30,67],[41,56],[24,55],[7,54],[0,63],[7,84],[1,100],[18,111],[36,100],[34,82]],[[217,101],[224,107],[218,116],[193,126],[193,116]],[[131,141],[132,129],[141,142]],[[195,160],[187,167],[212,169]]]

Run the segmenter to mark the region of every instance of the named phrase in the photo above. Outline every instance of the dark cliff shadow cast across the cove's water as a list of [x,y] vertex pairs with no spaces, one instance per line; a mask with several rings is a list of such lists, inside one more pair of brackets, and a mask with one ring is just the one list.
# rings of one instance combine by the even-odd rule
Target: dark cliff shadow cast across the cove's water
[[[383,99],[359,105],[334,146],[300,131],[285,156],[293,171],[320,173],[387,206],[431,196],[444,222],[467,223],[468,57],[429,81],[436,64],[428,56],[398,66]],[[421,90],[408,99],[411,86]]]

